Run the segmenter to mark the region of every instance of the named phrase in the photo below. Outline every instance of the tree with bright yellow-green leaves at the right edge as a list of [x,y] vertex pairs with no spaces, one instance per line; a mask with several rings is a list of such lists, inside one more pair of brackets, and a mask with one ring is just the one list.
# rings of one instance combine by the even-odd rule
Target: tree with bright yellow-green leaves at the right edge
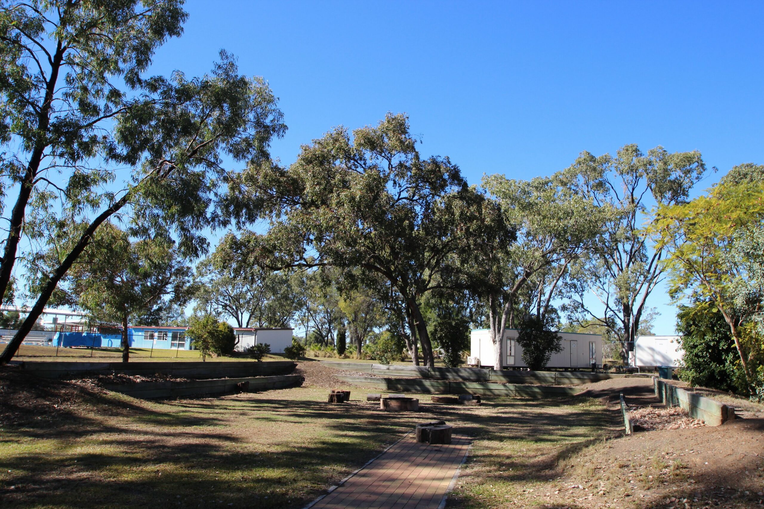
[[[741,177],[741,170],[743,176]],[[721,182],[685,204],[659,207],[649,231],[669,248],[669,292],[674,298],[713,302],[730,327],[749,383],[749,359],[743,327],[762,309],[758,292],[741,298],[753,272],[741,260],[740,239],[764,221],[764,166],[738,166]]]

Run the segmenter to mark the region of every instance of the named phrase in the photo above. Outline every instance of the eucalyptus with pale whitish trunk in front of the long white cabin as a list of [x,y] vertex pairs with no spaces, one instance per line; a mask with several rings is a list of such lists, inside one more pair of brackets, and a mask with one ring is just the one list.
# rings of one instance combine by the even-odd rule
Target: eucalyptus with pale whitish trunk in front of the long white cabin
[[[483,185],[500,205],[501,215],[487,225],[487,239],[468,256],[473,291],[486,305],[494,368],[501,369],[504,330],[522,318],[517,312],[523,303],[525,313],[534,308],[543,320],[572,261],[601,233],[605,211],[576,195],[558,176],[518,181],[493,175],[485,177]],[[504,233],[490,240],[496,232]]]

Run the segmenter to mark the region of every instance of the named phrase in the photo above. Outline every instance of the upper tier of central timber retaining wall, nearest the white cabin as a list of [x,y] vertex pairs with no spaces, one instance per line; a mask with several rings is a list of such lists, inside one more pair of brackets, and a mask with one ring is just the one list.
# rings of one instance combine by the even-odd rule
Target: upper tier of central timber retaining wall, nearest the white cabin
[[424,366],[397,366],[395,364],[368,364],[365,362],[322,361],[324,366],[336,369],[436,380],[461,380],[465,382],[501,382],[520,385],[581,385],[601,380],[621,378],[625,375],[588,373],[581,371],[520,371],[481,368],[440,368]]

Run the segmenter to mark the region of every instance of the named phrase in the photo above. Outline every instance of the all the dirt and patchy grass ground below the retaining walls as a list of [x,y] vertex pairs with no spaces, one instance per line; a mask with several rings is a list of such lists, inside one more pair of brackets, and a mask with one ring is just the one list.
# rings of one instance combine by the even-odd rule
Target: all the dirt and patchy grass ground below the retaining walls
[[[441,418],[474,439],[448,507],[764,507],[762,405],[740,404],[748,418],[720,427],[623,436],[618,396],[656,405],[651,379],[610,379],[568,398],[486,397],[480,407],[416,395],[419,412],[393,415],[364,401],[368,388],[335,378],[348,372],[316,361],[296,372],[302,388],[147,402],[2,369],[0,497],[9,507],[102,507],[104,497],[197,507],[203,497],[298,509],[416,422]],[[326,404],[335,388],[353,401]]]

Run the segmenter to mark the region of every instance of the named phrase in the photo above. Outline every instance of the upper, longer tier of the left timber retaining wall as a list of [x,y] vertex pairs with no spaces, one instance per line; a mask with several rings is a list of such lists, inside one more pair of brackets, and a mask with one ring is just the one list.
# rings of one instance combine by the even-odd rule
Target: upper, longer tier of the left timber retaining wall
[[72,376],[110,375],[169,375],[179,379],[222,379],[265,375],[286,375],[297,366],[292,361],[209,361],[209,362],[66,362],[24,361],[21,369],[46,379]]

